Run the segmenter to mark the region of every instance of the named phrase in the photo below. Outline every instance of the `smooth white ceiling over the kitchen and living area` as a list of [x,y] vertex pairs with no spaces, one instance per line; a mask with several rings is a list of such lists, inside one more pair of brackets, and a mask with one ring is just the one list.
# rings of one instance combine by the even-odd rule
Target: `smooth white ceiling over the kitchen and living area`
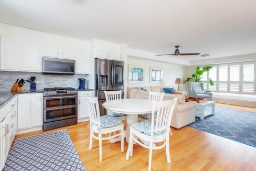
[[256,52],[255,0],[0,0],[0,22],[153,54],[176,44],[210,58]]

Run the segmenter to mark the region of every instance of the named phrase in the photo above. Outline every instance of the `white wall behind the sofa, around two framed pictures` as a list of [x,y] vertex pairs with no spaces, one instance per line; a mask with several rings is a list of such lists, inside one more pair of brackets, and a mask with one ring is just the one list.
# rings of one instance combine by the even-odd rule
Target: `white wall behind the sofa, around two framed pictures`
[[[144,83],[127,83],[127,87],[143,87],[143,86],[170,86],[177,88],[175,79],[180,77],[184,79],[186,66],[178,65],[175,63],[168,63],[162,61],[156,61],[151,59],[143,59],[133,56],[127,57],[126,65],[137,65],[144,67]],[[150,83],[150,67],[163,69],[163,82],[162,83]],[[128,74],[128,73],[127,73]],[[127,78],[128,79],[128,78]],[[180,90],[185,91],[184,86],[180,85]]]

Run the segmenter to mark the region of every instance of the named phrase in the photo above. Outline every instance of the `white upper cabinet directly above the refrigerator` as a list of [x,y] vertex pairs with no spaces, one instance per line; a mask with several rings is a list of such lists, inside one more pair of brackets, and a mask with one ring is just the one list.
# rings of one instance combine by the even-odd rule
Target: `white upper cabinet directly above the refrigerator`
[[93,58],[121,60],[120,45],[98,39],[92,40]]

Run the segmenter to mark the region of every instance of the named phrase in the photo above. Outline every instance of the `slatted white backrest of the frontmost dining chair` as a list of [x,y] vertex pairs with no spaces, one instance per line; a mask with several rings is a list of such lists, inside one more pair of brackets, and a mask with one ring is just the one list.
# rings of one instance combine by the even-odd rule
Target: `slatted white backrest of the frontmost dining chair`
[[[167,100],[162,102],[153,102],[152,107],[152,120],[151,120],[151,135],[154,132],[169,130],[170,121],[173,116],[173,111],[177,102],[177,98],[173,100]],[[156,115],[156,119],[154,116]]]

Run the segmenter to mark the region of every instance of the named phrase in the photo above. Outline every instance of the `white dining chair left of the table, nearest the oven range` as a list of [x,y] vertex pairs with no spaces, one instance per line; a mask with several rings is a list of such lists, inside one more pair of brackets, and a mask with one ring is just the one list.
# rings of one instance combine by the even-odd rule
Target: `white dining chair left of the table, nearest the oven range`
[[[93,138],[99,140],[100,162],[102,161],[102,140],[110,140],[111,138],[121,137],[121,151],[124,151],[124,124],[116,117],[110,115],[100,116],[98,98],[86,97],[89,117],[90,117],[90,144],[92,149]],[[120,133],[108,137],[102,137],[102,134],[110,134],[119,131]],[[98,136],[94,135],[98,134]]]

